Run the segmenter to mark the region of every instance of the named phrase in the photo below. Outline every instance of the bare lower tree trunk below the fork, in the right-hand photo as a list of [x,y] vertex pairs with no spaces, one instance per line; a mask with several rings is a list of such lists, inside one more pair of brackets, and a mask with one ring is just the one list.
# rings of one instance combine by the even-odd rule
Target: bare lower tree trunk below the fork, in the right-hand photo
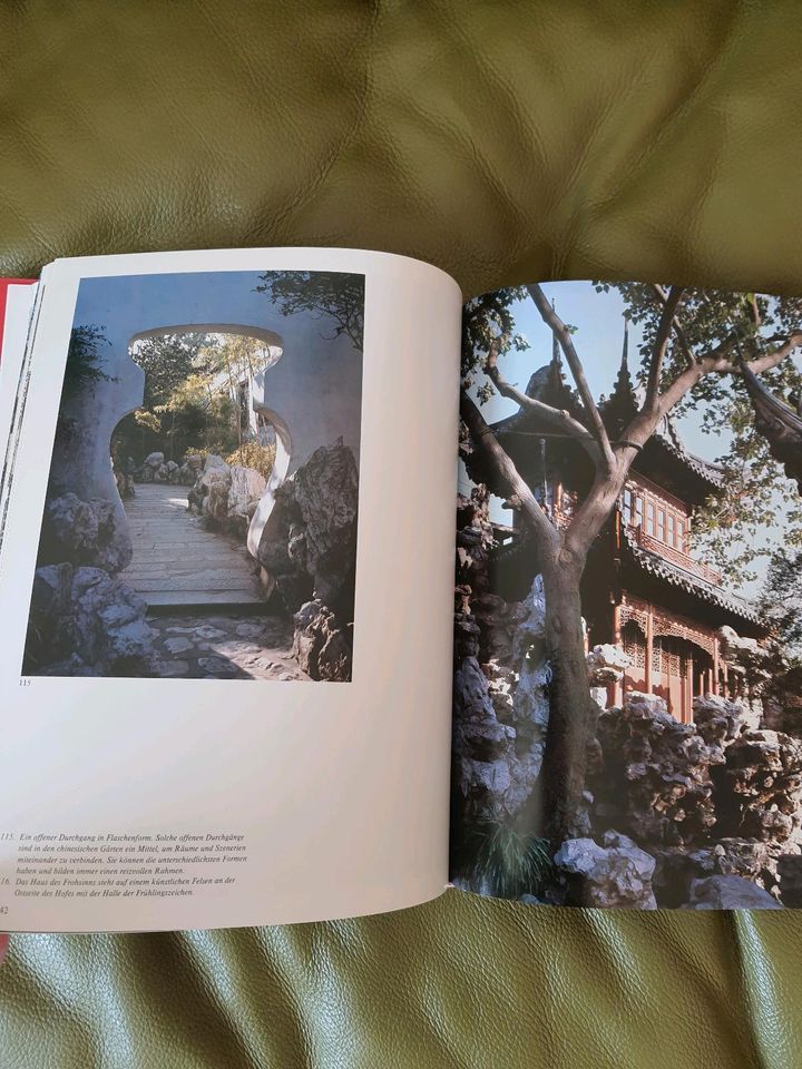
[[546,649],[551,667],[544,754],[546,834],[555,849],[576,834],[587,746],[596,726],[590,697],[579,582],[585,561],[565,547],[544,563]]

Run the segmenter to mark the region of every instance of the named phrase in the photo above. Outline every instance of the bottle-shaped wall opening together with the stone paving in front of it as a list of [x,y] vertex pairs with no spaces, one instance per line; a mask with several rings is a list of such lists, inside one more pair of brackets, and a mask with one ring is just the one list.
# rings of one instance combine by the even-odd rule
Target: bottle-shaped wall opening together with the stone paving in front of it
[[133,546],[123,579],[148,605],[166,675],[303,677],[291,619],[268,604],[258,538],[292,458],[270,406],[280,335],[222,323],[131,336],[143,403],[111,458]]

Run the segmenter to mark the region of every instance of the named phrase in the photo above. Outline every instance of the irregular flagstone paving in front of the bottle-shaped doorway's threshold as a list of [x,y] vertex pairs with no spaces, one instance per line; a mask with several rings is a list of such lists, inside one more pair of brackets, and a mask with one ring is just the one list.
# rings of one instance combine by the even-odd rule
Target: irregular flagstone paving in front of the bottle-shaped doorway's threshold
[[153,616],[158,676],[309,679],[294,660],[292,626],[275,616]]

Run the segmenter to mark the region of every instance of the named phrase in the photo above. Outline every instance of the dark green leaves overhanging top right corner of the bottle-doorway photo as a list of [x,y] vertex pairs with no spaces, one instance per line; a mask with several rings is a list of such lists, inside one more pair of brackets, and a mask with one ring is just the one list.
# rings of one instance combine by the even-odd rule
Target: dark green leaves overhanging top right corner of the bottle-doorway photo
[[[272,271],[260,276],[257,293],[266,293],[282,315],[310,312],[333,326],[330,337],[345,334],[362,351],[364,275],[335,271]],[[325,337],[325,335],[323,335]]]

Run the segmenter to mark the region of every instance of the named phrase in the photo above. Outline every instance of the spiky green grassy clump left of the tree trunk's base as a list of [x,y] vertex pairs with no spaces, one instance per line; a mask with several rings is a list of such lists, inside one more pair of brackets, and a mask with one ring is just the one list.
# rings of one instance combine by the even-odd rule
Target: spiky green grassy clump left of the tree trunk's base
[[548,840],[503,821],[468,825],[456,864],[470,883],[489,884],[490,893],[502,899],[541,894],[552,869]]

